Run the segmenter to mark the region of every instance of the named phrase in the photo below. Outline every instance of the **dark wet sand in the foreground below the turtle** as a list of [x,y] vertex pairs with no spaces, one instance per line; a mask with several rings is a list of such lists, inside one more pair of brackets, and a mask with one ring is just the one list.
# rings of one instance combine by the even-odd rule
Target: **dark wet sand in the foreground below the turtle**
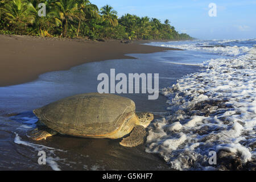
[[[144,144],[127,148],[119,145],[121,139],[87,139],[60,134],[35,142],[26,136],[26,129],[19,122],[0,117],[0,123],[0,170],[172,170],[157,155],[144,152]],[[39,151],[46,152],[47,165],[38,164]]]

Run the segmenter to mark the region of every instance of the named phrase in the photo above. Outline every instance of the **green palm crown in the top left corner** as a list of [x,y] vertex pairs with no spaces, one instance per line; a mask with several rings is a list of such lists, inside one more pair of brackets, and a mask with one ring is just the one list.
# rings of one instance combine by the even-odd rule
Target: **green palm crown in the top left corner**
[[[28,23],[34,23],[35,15],[31,14],[33,5],[21,0],[1,1],[5,3],[0,9],[5,20],[18,29],[26,29]],[[20,27],[21,25],[21,27]]]

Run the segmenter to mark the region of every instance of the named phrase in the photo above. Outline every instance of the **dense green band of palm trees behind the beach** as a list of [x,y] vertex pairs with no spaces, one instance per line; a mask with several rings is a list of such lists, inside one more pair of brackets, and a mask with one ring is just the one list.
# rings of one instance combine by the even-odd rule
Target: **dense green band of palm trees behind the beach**
[[[46,16],[38,16],[39,3]],[[88,37],[90,39],[192,39],[179,34],[170,21],[125,14],[106,5],[100,10],[88,0],[0,0],[0,34]]]

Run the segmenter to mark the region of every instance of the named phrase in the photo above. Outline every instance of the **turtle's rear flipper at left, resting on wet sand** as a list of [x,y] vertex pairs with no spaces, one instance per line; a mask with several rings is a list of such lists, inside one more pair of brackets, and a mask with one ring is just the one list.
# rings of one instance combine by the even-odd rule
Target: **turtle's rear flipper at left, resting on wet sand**
[[38,141],[38,140],[46,139],[47,137],[51,137],[56,134],[57,134],[57,131],[54,131],[52,129],[46,129],[46,130],[35,129],[28,134],[28,137]]

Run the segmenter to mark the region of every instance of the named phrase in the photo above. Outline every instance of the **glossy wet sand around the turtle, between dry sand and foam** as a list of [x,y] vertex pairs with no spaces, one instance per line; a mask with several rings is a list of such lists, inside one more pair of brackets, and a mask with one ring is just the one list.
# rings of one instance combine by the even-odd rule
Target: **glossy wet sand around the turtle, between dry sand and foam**
[[[130,55],[137,59],[106,60],[49,72],[35,81],[0,87],[0,169],[12,170],[169,170],[162,158],[146,153],[144,146],[126,148],[120,140],[86,139],[56,135],[33,141],[27,133],[38,118],[32,110],[80,93],[97,92],[100,73],[159,73],[159,88],[174,84],[178,78],[199,71],[192,65],[171,64],[162,57],[178,52]],[[134,100],[137,111],[166,114],[166,97],[147,100],[147,94],[121,94]],[[104,148],[104,150],[102,150]],[[47,155],[39,165],[38,152]]]

